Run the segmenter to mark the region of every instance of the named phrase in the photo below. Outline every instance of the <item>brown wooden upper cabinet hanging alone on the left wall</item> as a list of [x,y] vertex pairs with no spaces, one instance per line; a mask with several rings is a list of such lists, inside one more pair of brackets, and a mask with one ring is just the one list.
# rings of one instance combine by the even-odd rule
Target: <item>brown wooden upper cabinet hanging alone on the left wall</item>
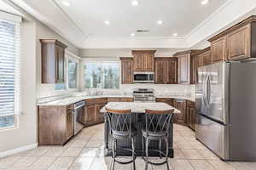
[[65,45],[55,39],[41,39],[42,83],[64,82]]

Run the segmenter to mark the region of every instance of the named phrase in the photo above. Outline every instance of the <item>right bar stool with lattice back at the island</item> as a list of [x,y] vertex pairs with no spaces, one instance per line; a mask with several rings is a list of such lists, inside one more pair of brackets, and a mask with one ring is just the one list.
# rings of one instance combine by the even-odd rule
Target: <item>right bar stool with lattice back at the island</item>
[[[146,158],[143,156],[143,160],[146,161],[145,170],[148,169],[148,163],[152,165],[163,165],[166,163],[167,169],[169,170],[168,164],[168,155],[169,155],[169,127],[172,122],[174,110],[168,111],[152,111],[146,110],[145,119],[146,122],[143,124],[142,129],[142,142],[143,142],[143,155],[146,152]],[[144,150],[144,138],[146,139],[146,150]],[[152,162],[148,161],[148,144],[150,140],[159,140],[159,150],[152,150],[157,151],[160,153],[161,156],[166,156],[166,160],[163,162]],[[161,150],[161,141],[165,140],[166,142],[166,153]]]

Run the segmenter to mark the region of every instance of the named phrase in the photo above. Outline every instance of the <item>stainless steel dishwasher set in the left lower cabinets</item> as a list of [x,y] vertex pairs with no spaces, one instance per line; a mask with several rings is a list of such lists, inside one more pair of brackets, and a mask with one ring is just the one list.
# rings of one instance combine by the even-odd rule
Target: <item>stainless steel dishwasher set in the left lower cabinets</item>
[[80,101],[73,105],[73,133],[76,135],[82,128],[84,128],[83,123],[81,123],[82,114],[84,112],[84,101]]

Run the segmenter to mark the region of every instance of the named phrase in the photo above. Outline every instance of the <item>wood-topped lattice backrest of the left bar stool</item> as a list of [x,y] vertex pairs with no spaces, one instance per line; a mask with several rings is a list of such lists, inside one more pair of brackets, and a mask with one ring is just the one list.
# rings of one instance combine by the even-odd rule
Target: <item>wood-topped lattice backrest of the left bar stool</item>
[[131,110],[113,110],[106,108],[111,133],[130,133]]

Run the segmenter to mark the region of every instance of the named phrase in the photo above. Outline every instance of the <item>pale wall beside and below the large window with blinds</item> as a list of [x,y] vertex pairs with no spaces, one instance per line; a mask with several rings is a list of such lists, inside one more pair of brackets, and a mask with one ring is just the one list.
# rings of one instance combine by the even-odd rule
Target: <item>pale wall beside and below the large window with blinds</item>
[[21,115],[19,127],[0,133],[0,153],[28,144],[37,144],[36,107],[36,25],[21,24]]

